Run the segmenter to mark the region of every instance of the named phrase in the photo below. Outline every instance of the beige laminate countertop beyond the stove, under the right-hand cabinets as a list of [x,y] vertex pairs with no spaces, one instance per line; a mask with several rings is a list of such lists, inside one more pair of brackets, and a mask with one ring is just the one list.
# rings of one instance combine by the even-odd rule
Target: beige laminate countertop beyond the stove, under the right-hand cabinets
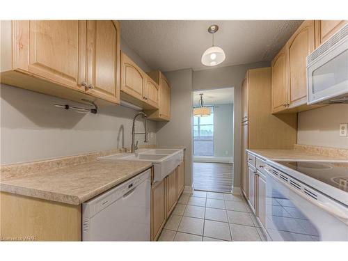
[[348,161],[340,155],[319,155],[306,150],[247,150],[254,155],[269,160],[313,160],[313,161]]

